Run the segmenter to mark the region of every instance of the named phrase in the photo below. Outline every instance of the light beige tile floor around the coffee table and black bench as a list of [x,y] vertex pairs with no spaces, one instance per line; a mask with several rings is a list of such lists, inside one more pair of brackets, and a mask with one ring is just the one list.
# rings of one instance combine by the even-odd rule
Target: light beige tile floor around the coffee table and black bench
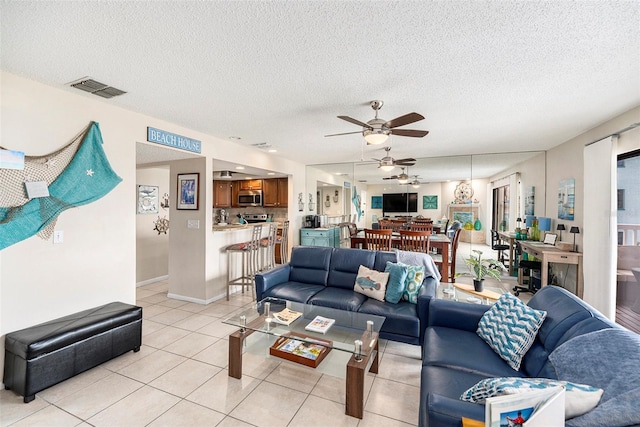
[[0,391],[0,426],[415,426],[420,347],[381,341],[367,374],[365,413],[344,414],[344,379],[245,354],[243,377],[227,371],[222,319],[251,303],[234,294],[199,305],[167,298],[166,282],[137,289],[140,352],[128,352],[36,394],[24,404]]

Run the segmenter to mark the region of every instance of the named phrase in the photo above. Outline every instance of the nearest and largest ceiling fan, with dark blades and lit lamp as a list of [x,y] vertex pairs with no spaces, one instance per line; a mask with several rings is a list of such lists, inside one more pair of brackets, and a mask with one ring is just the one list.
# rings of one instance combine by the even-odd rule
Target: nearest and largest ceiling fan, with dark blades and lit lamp
[[[362,136],[367,141],[367,144],[382,144],[389,138],[389,135],[398,136],[410,136],[413,138],[422,138],[429,131],[415,130],[415,129],[396,129],[397,127],[415,123],[424,119],[424,116],[418,113],[409,113],[404,116],[396,117],[393,120],[386,121],[385,119],[378,118],[378,111],[382,108],[384,102],[376,100],[371,101],[371,108],[376,112],[374,119],[369,120],[367,123],[363,123],[360,120],[354,119],[349,116],[338,116],[339,119],[346,120],[349,123],[353,123],[358,126],[362,126]],[[332,135],[325,136],[338,136],[338,135],[351,135],[360,132],[346,132],[346,133],[334,133]]]

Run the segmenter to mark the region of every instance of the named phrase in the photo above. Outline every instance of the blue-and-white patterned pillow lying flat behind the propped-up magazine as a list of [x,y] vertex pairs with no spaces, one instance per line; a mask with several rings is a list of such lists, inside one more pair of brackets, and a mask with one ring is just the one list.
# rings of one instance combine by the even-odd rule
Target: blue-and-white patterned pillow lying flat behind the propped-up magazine
[[462,393],[461,400],[484,403],[486,399],[505,394],[526,393],[549,387],[565,388],[564,417],[570,419],[586,414],[598,405],[604,390],[584,384],[548,378],[502,377],[486,378]]

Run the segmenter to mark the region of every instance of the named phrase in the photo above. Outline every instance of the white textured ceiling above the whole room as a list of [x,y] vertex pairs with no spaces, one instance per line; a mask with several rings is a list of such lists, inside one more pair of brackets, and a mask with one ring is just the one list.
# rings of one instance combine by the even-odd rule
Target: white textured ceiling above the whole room
[[[640,105],[640,2],[6,1],[2,70],[305,164],[546,150]],[[68,87],[90,76],[128,93]],[[170,129],[167,129],[170,130]],[[397,173],[394,171],[394,173]]]

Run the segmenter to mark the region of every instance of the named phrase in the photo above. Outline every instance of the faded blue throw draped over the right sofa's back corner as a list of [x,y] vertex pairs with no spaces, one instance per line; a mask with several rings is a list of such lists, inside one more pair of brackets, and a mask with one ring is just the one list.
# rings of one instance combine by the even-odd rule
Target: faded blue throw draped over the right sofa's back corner
[[614,427],[640,424],[640,336],[622,328],[602,329],[563,343],[549,361],[558,379],[604,390],[590,412],[567,426]]

